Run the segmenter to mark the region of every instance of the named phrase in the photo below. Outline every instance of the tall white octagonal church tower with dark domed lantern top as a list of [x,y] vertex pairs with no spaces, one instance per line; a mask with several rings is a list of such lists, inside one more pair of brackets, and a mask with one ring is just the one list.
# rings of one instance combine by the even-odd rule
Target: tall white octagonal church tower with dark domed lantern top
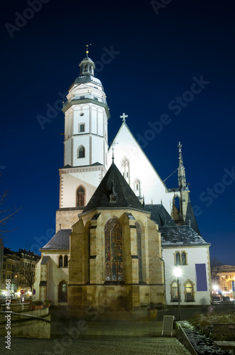
[[108,170],[108,119],[95,63],[81,60],[80,75],[69,87],[64,103],[64,166],[59,169],[59,209],[56,230],[71,228]]

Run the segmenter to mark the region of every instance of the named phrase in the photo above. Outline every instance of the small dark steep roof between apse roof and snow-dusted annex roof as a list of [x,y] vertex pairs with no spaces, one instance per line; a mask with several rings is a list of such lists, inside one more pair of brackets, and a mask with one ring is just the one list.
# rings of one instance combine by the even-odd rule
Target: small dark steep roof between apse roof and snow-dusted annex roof
[[176,226],[163,204],[145,204],[144,209],[151,212],[151,219],[159,226]]

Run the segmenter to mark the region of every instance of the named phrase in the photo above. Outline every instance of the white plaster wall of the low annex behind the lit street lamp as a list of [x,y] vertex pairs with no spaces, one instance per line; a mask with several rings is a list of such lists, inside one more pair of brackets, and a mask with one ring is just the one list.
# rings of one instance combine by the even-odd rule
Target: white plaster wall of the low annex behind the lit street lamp
[[[165,262],[165,280],[166,280],[166,304],[176,305],[177,302],[171,302],[171,283],[176,280],[173,275],[173,270],[176,268],[174,265],[175,258],[174,253],[176,251],[186,253],[186,261],[188,265],[180,266],[182,270],[182,275],[180,276],[180,304],[181,305],[210,305],[210,260],[209,260],[209,249],[207,246],[182,246],[176,248],[164,248],[162,251],[162,257]],[[205,263],[206,274],[207,274],[207,291],[197,291],[197,280],[196,280],[196,269],[195,264]],[[195,302],[185,302],[184,295],[184,283],[186,280],[193,282],[195,291]]]

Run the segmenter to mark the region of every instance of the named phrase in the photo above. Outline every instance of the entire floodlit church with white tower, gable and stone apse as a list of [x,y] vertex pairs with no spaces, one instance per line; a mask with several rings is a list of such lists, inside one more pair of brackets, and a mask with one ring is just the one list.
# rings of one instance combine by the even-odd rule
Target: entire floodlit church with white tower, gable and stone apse
[[40,249],[35,295],[71,310],[210,305],[210,243],[193,214],[182,145],[171,189],[127,115],[108,147],[110,112],[88,50],[79,67],[63,107],[56,234]]

